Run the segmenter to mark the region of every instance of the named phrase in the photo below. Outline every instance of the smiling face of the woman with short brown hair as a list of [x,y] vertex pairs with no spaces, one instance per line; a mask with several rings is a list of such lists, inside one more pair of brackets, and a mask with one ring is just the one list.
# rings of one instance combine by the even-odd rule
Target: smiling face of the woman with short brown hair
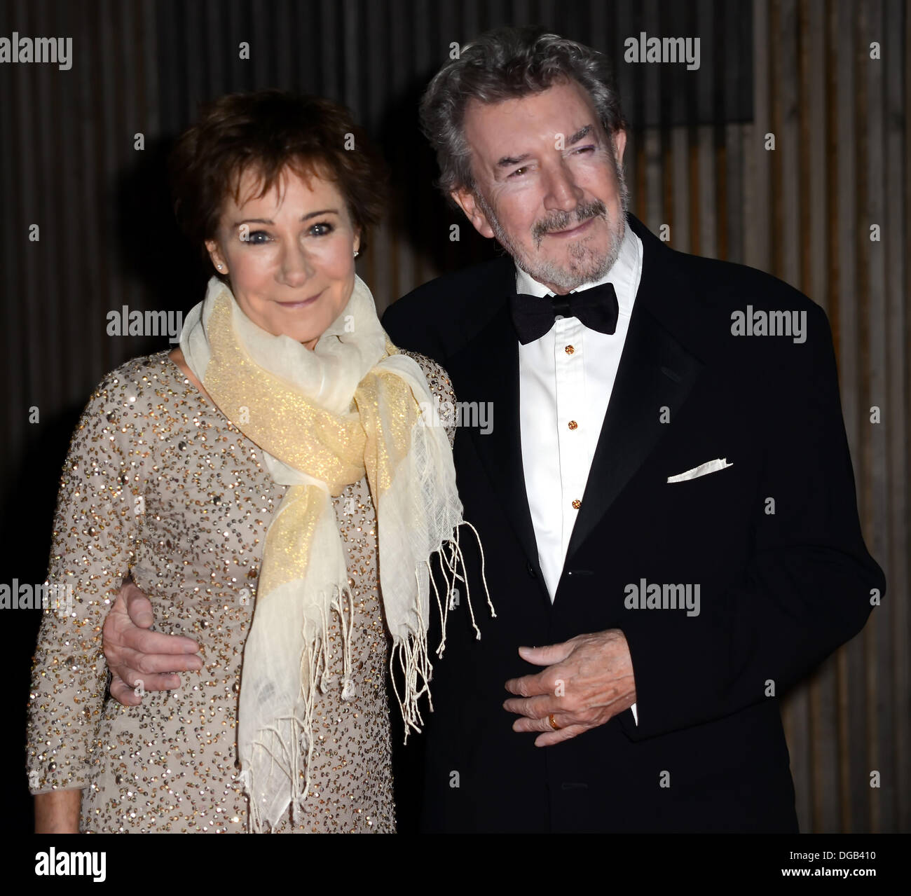
[[351,298],[360,234],[331,180],[286,168],[269,192],[247,199],[259,192],[248,170],[240,186],[241,205],[225,200],[218,238],[206,241],[212,263],[251,321],[312,349]]

